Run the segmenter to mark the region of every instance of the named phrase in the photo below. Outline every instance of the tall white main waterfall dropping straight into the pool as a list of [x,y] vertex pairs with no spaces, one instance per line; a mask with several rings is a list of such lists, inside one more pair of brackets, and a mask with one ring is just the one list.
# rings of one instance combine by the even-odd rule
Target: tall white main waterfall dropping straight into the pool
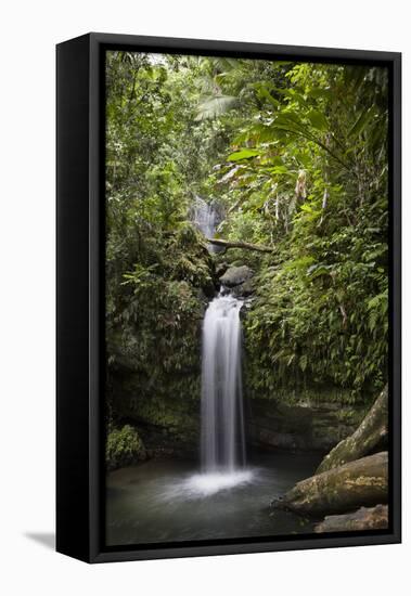
[[233,472],[245,464],[242,305],[220,294],[204,318],[201,455],[205,472]]

